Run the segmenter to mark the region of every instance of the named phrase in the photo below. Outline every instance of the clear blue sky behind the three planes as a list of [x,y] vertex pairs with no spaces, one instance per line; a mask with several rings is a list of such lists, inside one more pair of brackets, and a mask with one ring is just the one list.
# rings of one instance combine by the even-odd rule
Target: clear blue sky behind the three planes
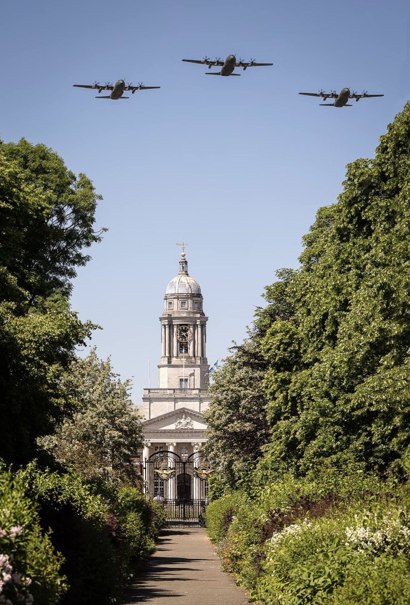
[[[189,244],[212,364],[410,97],[407,0],[15,0],[0,22],[2,139],[45,143],[103,195],[109,231],[72,302],[102,325],[93,343],[133,377],[135,404],[148,358],[157,381],[175,244]],[[275,65],[221,78],[181,62],[230,53]],[[114,102],[72,87],[119,78],[161,89]],[[345,86],[386,96],[336,109],[298,95]]]

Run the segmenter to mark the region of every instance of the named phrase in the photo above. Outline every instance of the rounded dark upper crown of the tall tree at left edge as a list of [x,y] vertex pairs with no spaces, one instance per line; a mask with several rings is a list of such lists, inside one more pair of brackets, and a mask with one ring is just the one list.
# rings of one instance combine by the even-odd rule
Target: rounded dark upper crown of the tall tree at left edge
[[100,199],[45,145],[0,145],[0,264],[30,304],[71,292],[76,267],[90,258],[83,250],[105,231],[93,228]]

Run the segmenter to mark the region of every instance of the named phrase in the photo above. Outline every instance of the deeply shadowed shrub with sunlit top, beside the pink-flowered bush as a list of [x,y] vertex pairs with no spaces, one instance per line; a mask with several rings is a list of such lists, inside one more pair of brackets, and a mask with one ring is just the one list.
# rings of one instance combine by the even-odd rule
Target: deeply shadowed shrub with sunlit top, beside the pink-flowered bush
[[51,528],[70,586],[65,605],[115,603],[125,577],[115,519],[102,497],[80,477],[39,471],[33,464],[19,476],[37,503],[41,525]]

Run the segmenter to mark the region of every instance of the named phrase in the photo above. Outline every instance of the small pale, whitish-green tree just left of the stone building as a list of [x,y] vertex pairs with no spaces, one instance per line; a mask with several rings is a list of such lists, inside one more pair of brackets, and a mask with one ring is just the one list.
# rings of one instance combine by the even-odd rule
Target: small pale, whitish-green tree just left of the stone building
[[93,349],[77,358],[62,382],[67,407],[73,410],[41,445],[74,473],[87,480],[127,482],[137,476],[132,465],[143,444],[142,420],[131,410],[129,380],[114,374],[111,361]]

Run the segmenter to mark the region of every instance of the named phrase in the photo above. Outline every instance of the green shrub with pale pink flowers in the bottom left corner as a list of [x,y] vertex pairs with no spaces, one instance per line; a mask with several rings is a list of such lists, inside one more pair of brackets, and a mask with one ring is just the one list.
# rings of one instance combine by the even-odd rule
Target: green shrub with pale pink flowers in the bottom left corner
[[0,603],[59,604],[67,590],[62,563],[22,478],[0,468]]

